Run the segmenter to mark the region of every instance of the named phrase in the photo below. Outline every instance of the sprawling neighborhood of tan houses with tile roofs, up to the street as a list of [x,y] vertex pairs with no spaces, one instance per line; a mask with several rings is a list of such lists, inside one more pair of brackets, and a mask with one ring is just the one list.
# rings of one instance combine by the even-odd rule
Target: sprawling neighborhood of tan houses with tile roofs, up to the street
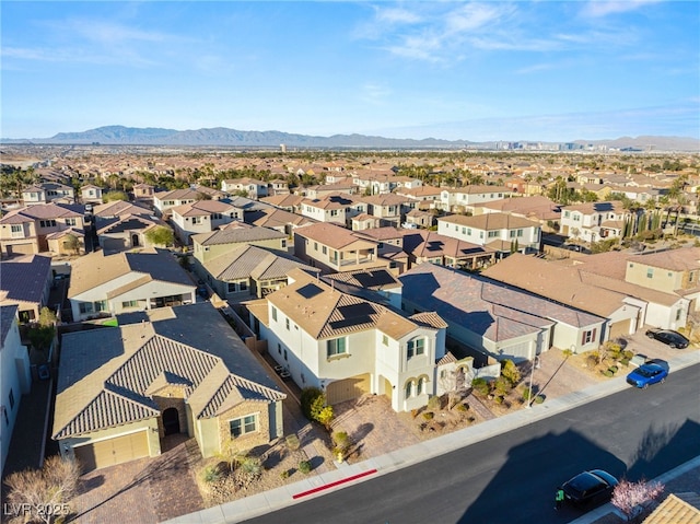
[[20,153],[3,475],[28,423],[104,490],[185,454],[153,522],[700,354],[698,155]]

